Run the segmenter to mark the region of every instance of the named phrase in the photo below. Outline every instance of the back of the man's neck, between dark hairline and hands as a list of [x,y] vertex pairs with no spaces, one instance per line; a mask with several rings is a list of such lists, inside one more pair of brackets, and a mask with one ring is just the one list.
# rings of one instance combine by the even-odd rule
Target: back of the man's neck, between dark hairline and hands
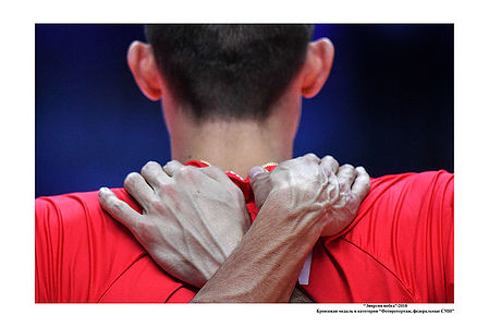
[[291,159],[301,119],[298,86],[292,83],[264,120],[208,119],[197,123],[168,96],[163,114],[172,158],[181,162],[205,160],[243,178],[254,166]]

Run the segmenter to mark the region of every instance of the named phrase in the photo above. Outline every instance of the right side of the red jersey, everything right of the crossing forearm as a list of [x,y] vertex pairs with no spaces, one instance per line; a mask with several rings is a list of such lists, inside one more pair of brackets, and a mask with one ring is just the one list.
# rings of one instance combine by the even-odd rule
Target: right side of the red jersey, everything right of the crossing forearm
[[316,244],[318,302],[453,302],[453,174],[374,179],[351,226]]

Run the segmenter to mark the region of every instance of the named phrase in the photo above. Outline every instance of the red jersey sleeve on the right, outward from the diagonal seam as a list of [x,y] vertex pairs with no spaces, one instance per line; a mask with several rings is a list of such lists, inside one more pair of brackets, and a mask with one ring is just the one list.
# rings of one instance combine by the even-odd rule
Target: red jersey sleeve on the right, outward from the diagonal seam
[[344,239],[390,270],[416,302],[453,302],[453,196],[447,171],[377,179]]

